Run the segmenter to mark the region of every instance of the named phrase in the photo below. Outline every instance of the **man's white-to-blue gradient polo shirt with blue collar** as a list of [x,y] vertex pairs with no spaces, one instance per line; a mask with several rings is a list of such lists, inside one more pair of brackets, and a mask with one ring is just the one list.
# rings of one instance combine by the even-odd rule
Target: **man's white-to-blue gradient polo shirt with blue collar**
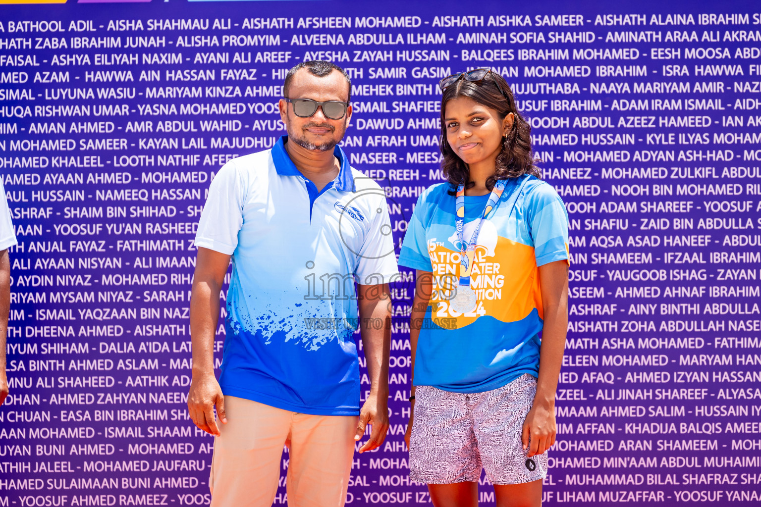
[[220,385],[225,395],[302,414],[359,414],[354,282],[398,271],[386,196],[340,161],[317,192],[285,151],[224,164],[196,246],[233,256]]

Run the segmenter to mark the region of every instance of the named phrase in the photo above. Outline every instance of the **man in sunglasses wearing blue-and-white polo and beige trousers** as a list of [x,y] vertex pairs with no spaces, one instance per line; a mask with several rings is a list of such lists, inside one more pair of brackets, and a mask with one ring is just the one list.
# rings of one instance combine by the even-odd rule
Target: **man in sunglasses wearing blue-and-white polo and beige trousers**
[[[355,441],[370,423],[359,449],[369,451],[388,428],[388,283],[398,271],[384,192],[337,146],[350,93],[336,65],[296,65],[279,103],[288,136],[226,163],[209,188],[196,235],[188,408],[216,436],[213,506],[272,505],[284,444],[291,505],[343,505]],[[231,258],[217,382],[212,347]],[[361,410],[357,325],[371,381]]]

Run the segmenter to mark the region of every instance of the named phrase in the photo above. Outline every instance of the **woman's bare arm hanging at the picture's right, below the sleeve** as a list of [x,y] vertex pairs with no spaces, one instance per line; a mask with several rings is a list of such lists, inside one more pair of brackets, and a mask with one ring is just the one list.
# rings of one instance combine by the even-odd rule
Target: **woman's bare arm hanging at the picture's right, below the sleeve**
[[537,395],[524,421],[523,440],[527,456],[540,455],[555,443],[555,391],[565,350],[568,328],[568,261],[539,267],[544,308],[542,347],[539,355]]

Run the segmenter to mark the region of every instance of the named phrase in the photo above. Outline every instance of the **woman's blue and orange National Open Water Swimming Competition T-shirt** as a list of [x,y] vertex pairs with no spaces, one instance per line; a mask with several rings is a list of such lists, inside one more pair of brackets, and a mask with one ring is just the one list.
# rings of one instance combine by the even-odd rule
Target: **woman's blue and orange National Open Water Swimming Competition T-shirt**
[[[434,293],[418,337],[415,385],[483,392],[539,371],[543,325],[539,266],[567,260],[568,215],[552,185],[533,176],[508,180],[479,231],[470,263],[476,308],[452,309],[462,251],[451,185],[432,185],[409,220],[399,264],[431,271]],[[465,196],[463,239],[470,239],[488,196]]]

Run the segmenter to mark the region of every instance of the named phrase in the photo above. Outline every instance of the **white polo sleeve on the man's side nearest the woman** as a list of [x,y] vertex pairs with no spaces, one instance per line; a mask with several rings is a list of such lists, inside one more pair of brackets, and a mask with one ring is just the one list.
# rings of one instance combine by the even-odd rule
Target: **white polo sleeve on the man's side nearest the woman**
[[372,214],[370,230],[359,251],[355,270],[357,283],[361,285],[388,284],[399,274],[386,199],[379,195],[373,207],[379,212]]

